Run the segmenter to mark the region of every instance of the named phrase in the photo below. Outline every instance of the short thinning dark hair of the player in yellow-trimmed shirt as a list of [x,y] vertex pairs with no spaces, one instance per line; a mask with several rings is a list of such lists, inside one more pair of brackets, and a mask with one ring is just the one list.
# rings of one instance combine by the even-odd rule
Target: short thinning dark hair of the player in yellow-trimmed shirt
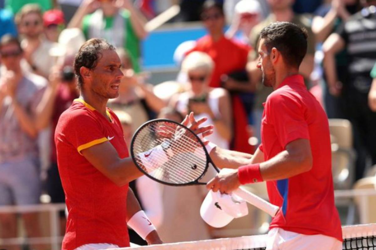
[[81,67],[88,69],[94,69],[97,66],[98,61],[102,58],[101,51],[103,50],[115,50],[115,47],[108,43],[105,39],[92,38],[87,40],[77,52],[74,58],[74,73],[77,77],[77,87],[82,88],[83,78],[80,73]]

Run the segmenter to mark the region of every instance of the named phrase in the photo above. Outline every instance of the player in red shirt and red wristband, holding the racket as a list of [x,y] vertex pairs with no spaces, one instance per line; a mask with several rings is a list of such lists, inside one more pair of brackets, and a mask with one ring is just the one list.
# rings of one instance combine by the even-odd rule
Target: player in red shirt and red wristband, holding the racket
[[[327,117],[298,75],[306,50],[307,33],[295,24],[275,22],[261,31],[258,67],[263,84],[274,88],[264,104],[262,144],[250,164],[207,184],[214,192],[230,193],[242,184],[267,181],[270,202],[280,207],[267,250],[342,249]],[[211,152],[219,166],[236,168],[226,165],[224,154],[220,148]]]

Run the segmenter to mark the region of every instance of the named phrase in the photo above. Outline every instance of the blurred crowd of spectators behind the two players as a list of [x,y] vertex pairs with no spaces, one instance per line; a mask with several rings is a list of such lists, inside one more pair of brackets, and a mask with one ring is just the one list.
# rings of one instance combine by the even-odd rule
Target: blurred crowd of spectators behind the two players
[[[256,67],[259,33],[274,21],[305,27],[308,51],[300,73],[329,118],[335,189],[374,189],[375,4],[0,0],[0,248],[56,249],[45,240],[51,236],[51,218],[29,205],[65,201],[53,134],[59,116],[79,97],[74,55],[92,37],[114,44],[122,62],[120,95],[108,106],[123,124],[127,145],[144,122],[180,122],[193,111],[215,125],[212,142],[253,153],[261,141],[262,103],[272,91],[261,84]],[[179,13],[158,23],[154,18],[173,12],[171,6],[179,6]],[[199,215],[206,195],[202,187],[163,187],[146,177],[130,186],[165,242],[264,233],[270,220],[250,208],[247,219],[214,230]],[[266,195],[262,184],[249,189]],[[359,205],[356,194],[342,197],[343,224],[376,222],[374,196],[366,197],[371,199],[367,206]],[[14,205],[30,209],[15,213]],[[58,225],[54,232],[64,235],[64,211]],[[130,234],[131,241],[144,244]]]

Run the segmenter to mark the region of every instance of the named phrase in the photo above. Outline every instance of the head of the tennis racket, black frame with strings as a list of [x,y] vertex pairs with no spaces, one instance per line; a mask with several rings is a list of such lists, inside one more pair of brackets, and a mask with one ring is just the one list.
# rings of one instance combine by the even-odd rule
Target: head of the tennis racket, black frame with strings
[[[140,156],[147,156],[150,150],[165,141],[170,142],[171,148],[174,147],[173,157],[162,165],[156,164],[156,168],[146,168]],[[211,162],[205,145],[196,133],[175,121],[154,119],[141,125],[132,137],[130,154],[136,167],[159,183],[169,186],[206,184],[199,182]],[[157,155],[155,159],[160,157]]]

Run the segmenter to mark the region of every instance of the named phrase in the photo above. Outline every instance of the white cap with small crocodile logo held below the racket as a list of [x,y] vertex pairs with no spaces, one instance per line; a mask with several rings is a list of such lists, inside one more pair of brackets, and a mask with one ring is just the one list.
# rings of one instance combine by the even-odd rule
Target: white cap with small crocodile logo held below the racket
[[248,214],[247,204],[234,201],[230,195],[209,191],[200,208],[201,218],[214,228],[222,228],[234,218]]

